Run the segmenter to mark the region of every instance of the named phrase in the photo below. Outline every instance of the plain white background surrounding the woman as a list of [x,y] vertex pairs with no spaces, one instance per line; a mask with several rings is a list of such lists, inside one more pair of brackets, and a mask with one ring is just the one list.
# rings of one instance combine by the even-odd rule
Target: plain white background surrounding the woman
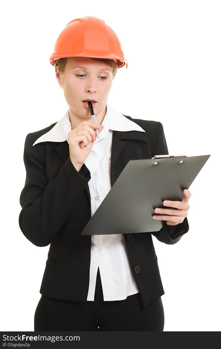
[[189,188],[189,231],[175,245],[153,242],[164,331],[220,331],[220,1],[10,1],[1,10],[1,331],[34,331],[49,246],[19,227],[24,141],[68,109],[48,59],[66,24],[84,16],[103,19],[128,59],[108,103],[160,121],[169,154],[211,154]]

